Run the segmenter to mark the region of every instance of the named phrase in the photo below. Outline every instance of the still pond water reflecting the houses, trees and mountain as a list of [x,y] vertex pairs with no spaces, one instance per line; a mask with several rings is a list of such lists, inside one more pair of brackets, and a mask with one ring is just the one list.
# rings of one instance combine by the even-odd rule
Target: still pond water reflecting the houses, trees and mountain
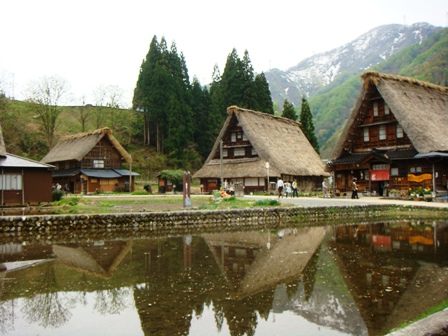
[[383,335],[448,299],[448,220],[0,253],[1,335]]

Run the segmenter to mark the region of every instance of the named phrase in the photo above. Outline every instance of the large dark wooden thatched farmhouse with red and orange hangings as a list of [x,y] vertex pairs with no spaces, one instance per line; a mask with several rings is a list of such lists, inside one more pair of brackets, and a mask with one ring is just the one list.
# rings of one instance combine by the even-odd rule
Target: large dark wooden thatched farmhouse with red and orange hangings
[[446,193],[448,88],[368,71],[330,161],[335,188]]

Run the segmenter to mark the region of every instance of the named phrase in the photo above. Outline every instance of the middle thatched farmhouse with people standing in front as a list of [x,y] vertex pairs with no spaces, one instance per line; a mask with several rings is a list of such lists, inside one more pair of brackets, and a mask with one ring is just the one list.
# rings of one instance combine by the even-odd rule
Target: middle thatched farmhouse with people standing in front
[[290,182],[297,179],[300,191],[321,186],[328,176],[325,164],[299,123],[238,106],[227,112],[210,155],[193,175],[201,180],[203,191],[218,190],[221,179],[235,185],[235,191],[243,186],[246,194],[265,191],[268,185],[275,190],[280,177]]

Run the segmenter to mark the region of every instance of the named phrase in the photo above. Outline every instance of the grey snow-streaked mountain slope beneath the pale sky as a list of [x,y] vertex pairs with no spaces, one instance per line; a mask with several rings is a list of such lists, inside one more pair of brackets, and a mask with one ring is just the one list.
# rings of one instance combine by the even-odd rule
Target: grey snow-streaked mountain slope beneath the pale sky
[[285,98],[297,106],[302,96],[310,98],[336,80],[344,82],[344,78],[371,68],[407,46],[421,43],[440,29],[428,23],[384,25],[286,71],[269,70],[265,76],[272,99],[280,109]]

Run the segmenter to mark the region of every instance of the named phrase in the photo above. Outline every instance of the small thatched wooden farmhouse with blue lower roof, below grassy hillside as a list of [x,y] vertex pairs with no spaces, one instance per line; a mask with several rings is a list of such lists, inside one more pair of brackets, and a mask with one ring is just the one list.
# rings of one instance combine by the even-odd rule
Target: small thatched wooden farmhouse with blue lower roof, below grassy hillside
[[139,175],[122,169],[132,158],[107,127],[62,138],[42,162],[56,167],[53,183],[72,193],[133,191]]

